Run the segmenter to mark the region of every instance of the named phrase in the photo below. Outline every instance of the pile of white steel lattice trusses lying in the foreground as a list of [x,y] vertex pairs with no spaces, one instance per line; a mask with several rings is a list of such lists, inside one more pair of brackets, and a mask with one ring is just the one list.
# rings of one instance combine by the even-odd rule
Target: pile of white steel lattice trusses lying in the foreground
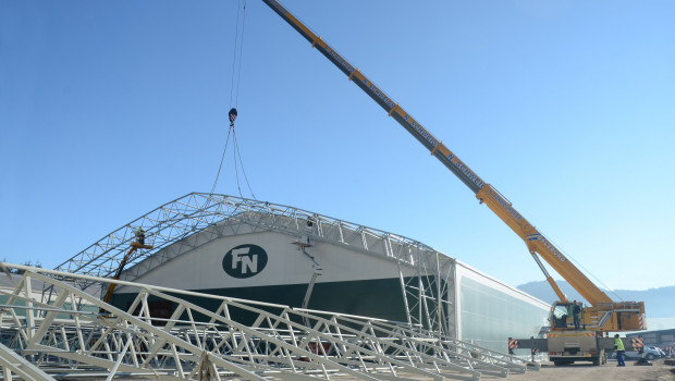
[[[109,280],[0,267],[13,284],[0,292],[8,298],[0,315],[5,380],[479,380],[526,371],[516,357],[419,325],[112,281],[138,291],[121,310],[74,286]],[[33,287],[42,282],[47,295]],[[171,303],[173,315],[151,318],[150,300]],[[248,323],[233,318],[242,314]]]

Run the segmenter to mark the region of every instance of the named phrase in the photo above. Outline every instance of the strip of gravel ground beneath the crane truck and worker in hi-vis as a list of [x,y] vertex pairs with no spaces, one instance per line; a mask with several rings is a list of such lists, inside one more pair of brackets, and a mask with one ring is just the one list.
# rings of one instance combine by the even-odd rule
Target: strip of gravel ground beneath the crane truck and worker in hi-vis
[[527,371],[525,374],[510,374],[502,379],[483,376],[481,380],[507,381],[576,381],[576,380],[612,380],[612,381],[675,381],[675,367],[666,366],[663,359],[652,361],[652,366],[635,366],[635,361],[626,361],[625,367],[617,367],[616,361],[594,367],[590,364],[574,364],[556,367],[553,362],[541,362],[539,371]]

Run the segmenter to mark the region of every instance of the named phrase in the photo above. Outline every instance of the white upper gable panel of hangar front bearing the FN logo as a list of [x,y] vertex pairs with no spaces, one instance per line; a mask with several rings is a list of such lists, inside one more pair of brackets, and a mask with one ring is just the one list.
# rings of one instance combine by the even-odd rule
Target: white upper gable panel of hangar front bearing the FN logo
[[[221,237],[163,262],[138,278],[122,279],[182,290],[306,285],[314,273],[314,263],[293,244],[296,241],[298,237],[274,232]],[[250,245],[261,248],[262,253],[248,248]],[[381,256],[328,243],[315,243],[306,251],[323,270],[317,280],[319,284],[398,279],[396,263]],[[162,251],[156,254],[161,255]],[[414,269],[406,273],[414,274]]]

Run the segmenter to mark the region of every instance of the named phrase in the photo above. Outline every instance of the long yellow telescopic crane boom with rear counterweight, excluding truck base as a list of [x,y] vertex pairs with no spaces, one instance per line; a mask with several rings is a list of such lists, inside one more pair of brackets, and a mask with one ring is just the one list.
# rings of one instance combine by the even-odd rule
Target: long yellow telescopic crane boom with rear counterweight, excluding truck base
[[[354,67],[346,59],[336,52],[321,37],[317,36],[311,29],[297,20],[277,0],[262,0],[283,20],[285,20],[295,30],[305,37],[312,48],[316,48],[338,69],[340,69],[348,79],[361,88],[372,100],[375,100],[389,116],[393,118],[410,135],[425,146],[433,157],[453,172],[478,198],[480,204],[484,204],[502,221],[508,225],[526,244],[529,253],[535,258],[537,265],[544,273],[547,281],[555,291],[557,297],[563,303],[567,303],[553,278],[549,274],[541,263],[543,258],[555,271],[557,271],[590,305],[585,309],[585,319],[588,318],[588,325],[594,321],[596,330],[599,331],[635,331],[641,328],[645,315],[645,305],[639,303],[615,303],[602,290],[596,286],[579,269],[577,269],[543,234],[530,224],[496,188],[486,183],[476,172],[474,172],[464,161],[451,151],[442,142],[429,133],[415,118],[408,114],[398,103],[391,99],[375,83],[367,78],[358,69]],[[610,314],[610,315],[608,315]]]

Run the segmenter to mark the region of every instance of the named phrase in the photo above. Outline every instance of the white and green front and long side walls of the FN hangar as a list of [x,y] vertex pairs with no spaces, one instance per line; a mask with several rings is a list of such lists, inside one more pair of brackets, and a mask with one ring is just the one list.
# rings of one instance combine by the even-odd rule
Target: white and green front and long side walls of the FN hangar
[[[158,261],[155,266],[149,265],[151,261],[142,263],[147,270],[136,272],[139,276],[122,279],[298,307],[314,272],[312,260],[293,244],[298,239],[269,231],[223,236],[210,242],[202,239],[204,244],[170,260]],[[441,273],[449,274],[450,279],[442,282],[442,286],[447,287],[441,292],[447,306],[454,309],[443,309],[444,319],[449,319],[449,325],[452,325],[449,329],[451,335],[506,352],[508,336],[537,336],[541,327],[547,324],[549,305],[464,263],[451,266],[455,260],[446,256],[439,259],[429,255],[413,268],[404,263],[400,267],[392,258],[382,255],[326,242],[312,242],[306,250],[322,269],[309,299],[311,309],[406,321],[400,269],[404,281],[413,279],[413,286],[429,285],[433,278],[415,281],[418,268],[432,270],[445,262],[449,267],[444,267]],[[162,255],[163,250],[155,256]],[[433,294],[435,286],[430,288]],[[416,292],[408,290],[406,295],[410,297],[410,293]],[[426,300],[438,295],[428,296],[431,298]],[[132,297],[127,287],[118,287],[113,303],[125,308]],[[413,308],[412,314],[419,314],[420,321],[426,320],[414,309],[419,309],[421,304],[414,299],[407,302]]]

